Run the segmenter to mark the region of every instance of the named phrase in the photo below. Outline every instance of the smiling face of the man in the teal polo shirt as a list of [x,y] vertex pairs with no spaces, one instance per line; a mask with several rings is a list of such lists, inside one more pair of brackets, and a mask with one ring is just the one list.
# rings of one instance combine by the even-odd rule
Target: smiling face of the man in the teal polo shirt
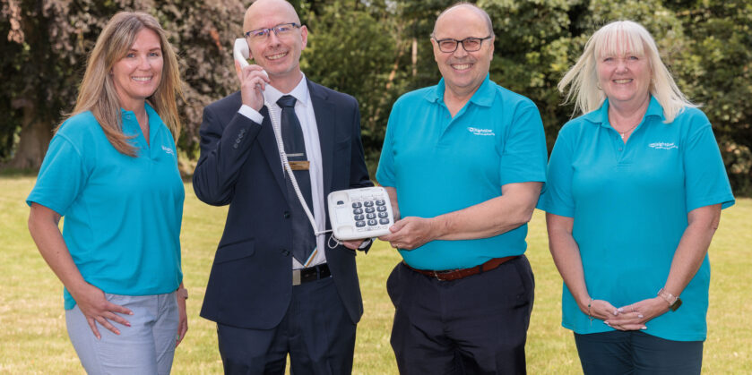
[[458,45],[454,52],[441,52],[437,40],[453,38],[486,38],[492,35],[483,16],[471,6],[456,6],[446,11],[437,20],[436,31],[431,43],[434,46],[434,59],[444,77],[447,91],[454,96],[471,96],[486,79],[494,56],[494,38],[483,40],[480,50],[465,51]]

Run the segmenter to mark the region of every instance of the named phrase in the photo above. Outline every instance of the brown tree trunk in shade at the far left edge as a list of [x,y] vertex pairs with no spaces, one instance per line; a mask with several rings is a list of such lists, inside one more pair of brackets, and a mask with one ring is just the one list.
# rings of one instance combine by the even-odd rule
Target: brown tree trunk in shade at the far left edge
[[52,139],[52,121],[34,113],[34,105],[26,104],[23,109],[23,127],[19,134],[18,148],[8,166],[18,169],[37,169]]

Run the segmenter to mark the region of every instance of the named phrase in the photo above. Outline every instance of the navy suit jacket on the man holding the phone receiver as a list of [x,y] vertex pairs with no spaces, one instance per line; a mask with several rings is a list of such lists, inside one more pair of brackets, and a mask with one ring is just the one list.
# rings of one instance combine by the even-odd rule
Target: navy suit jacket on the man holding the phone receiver
[[[314,82],[307,85],[321,142],[324,194],[372,186],[360,141],[358,102]],[[240,106],[238,91],[203,110],[194,191],[205,203],[229,204],[229,211],[201,316],[233,327],[268,329],[280,323],[290,305],[290,205],[299,202],[288,196],[266,107],[260,111],[264,123],[257,124],[238,113]],[[326,228],[331,229],[325,210]],[[337,292],[357,323],[363,303],[356,252],[324,247]]]

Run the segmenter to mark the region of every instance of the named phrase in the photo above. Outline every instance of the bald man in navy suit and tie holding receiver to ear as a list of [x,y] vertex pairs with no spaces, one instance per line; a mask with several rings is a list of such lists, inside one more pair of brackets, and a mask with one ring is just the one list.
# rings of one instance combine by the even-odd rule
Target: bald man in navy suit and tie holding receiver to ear
[[243,30],[255,64],[236,63],[240,91],[204,109],[194,173],[200,200],[229,204],[201,316],[217,322],[226,373],[281,374],[288,354],[296,374],[350,373],[363,313],[355,250],[369,241],[330,248],[315,232],[329,228],[329,192],[372,186],[358,102],[300,72],[307,29],[289,3],[256,1]]

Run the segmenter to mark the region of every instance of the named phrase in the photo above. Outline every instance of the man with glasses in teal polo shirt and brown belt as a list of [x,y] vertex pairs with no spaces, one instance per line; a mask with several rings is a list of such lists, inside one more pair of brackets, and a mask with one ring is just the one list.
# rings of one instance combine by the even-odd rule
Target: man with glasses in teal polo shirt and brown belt
[[480,8],[450,7],[431,37],[443,79],[394,104],[376,173],[402,217],[381,237],[404,259],[387,281],[392,346],[402,373],[523,373],[540,114],[489,80],[495,37]]

